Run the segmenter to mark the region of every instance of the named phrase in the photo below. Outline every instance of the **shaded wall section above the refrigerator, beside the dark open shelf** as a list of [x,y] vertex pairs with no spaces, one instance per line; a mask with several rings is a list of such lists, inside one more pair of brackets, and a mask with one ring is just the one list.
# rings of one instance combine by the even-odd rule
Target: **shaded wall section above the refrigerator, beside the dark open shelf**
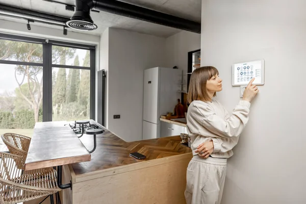
[[200,49],[201,35],[181,31],[166,39],[166,66],[177,66],[183,70],[183,90],[187,92],[188,52]]

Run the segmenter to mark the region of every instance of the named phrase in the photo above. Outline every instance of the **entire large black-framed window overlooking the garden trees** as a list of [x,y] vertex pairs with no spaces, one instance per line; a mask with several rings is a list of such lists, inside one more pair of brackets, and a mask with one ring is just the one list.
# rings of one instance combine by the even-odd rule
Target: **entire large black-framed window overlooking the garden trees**
[[0,135],[94,118],[94,55],[90,45],[0,34]]

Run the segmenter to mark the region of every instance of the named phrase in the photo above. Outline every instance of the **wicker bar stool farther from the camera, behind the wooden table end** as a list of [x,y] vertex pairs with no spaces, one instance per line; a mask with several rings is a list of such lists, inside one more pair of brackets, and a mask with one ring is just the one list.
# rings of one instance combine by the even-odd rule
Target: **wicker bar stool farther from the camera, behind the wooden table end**
[[23,168],[25,159],[27,159],[31,138],[15,133],[5,133],[1,138],[11,154],[22,157],[21,163],[17,165],[19,168]]

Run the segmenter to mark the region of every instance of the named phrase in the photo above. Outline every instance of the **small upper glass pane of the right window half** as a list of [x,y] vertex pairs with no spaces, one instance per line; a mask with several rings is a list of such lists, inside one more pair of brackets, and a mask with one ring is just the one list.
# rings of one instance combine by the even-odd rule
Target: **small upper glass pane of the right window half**
[[[78,59],[78,61],[75,61],[75,59]],[[52,64],[90,67],[90,51],[52,46]]]

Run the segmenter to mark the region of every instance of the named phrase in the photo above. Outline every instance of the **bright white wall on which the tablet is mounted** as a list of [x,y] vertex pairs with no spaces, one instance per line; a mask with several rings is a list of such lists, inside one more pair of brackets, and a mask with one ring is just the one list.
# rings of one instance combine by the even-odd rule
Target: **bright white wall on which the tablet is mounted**
[[266,69],[228,160],[222,204],[306,202],[304,8],[302,0],[202,0],[201,65],[219,69],[227,110],[240,99],[232,63],[263,58]]

